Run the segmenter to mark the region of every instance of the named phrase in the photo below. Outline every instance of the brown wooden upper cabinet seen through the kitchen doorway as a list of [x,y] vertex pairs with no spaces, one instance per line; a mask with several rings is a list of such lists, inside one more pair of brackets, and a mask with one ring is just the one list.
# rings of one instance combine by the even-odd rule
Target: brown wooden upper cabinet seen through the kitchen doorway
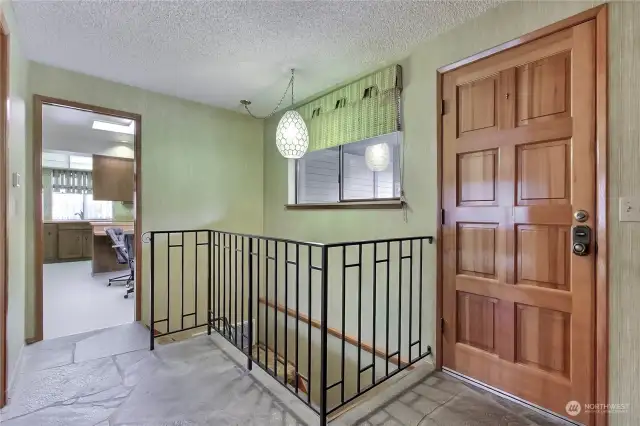
[[129,158],[93,156],[93,199],[133,202],[134,161]]

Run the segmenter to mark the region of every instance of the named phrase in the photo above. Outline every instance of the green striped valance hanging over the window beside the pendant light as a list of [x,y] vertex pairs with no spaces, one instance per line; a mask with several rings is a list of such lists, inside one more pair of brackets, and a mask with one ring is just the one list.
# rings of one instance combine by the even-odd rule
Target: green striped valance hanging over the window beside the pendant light
[[402,68],[392,65],[302,105],[309,151],[400,130]]

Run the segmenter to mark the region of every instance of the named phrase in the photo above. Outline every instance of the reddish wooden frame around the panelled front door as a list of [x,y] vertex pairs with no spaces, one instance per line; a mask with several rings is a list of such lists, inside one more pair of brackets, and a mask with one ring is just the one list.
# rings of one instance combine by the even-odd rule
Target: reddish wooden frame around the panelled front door
[[[596,285],[595,285],[595,382],[594,395],[597,404],[608,402],[609,388],[609,257],[608,257],[608,9],[607,5],[600,5],[556,22],[529,34],[523,35],[506,43],[479,52],[468,58],[438,68],[436,73],[436,112],[437,121],[437,269],[436,269],[436,368],[442,370],[442,318],[443,318],[443,282],[442,282],[442,81],[443,75],[449,71],[477,62],[481,59],[496,55],[505,50],[530,43],[570,27],[595,20],[596,23]],[[606,426],[607,414],[598,413],[595,416],[596,425]]]

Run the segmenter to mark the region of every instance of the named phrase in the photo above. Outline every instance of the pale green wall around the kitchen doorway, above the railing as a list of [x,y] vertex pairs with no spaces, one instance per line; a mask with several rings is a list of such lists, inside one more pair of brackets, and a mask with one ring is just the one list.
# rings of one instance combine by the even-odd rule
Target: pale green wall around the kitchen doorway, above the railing
[[[29,89],[142,115],[143,232],[214,228],[262,233],[262,121],[38,63],[31,63]],[[27,180],[25,193],[32,191]],[[27,197],[27,336],[35,331],[32,217],[33,201]],[[143,245],[146,255],[148,244]],[[142,318],[147,321],[148,269],[143,274]]]

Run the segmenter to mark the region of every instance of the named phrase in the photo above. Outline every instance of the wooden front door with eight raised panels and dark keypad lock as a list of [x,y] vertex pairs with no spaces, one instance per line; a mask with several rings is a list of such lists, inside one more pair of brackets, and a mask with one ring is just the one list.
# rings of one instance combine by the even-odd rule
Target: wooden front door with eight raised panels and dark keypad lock
[[595,23],[442,84],[443,366],[591,423],[566,406],[594,402]]

